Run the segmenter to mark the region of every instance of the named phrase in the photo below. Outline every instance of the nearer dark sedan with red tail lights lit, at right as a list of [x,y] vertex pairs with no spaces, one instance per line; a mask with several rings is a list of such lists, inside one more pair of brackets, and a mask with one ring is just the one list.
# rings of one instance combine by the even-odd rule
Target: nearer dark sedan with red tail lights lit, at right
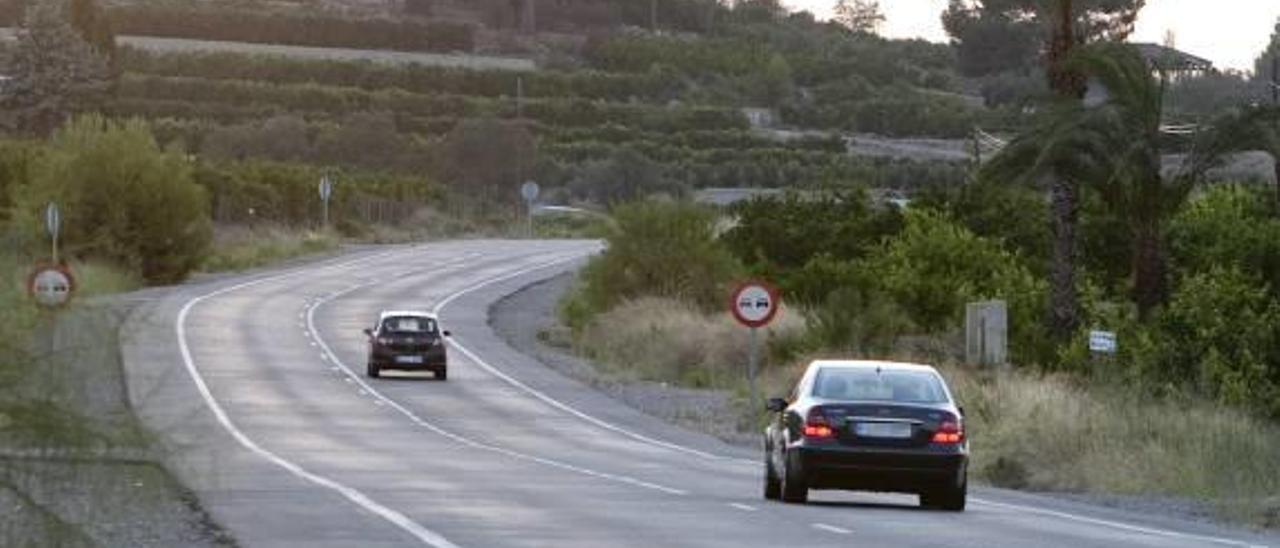
[[931,366],[815,361],[764,434],[764,497],[803,503],[810,489],[913,493],[964,511],[964,412]]

